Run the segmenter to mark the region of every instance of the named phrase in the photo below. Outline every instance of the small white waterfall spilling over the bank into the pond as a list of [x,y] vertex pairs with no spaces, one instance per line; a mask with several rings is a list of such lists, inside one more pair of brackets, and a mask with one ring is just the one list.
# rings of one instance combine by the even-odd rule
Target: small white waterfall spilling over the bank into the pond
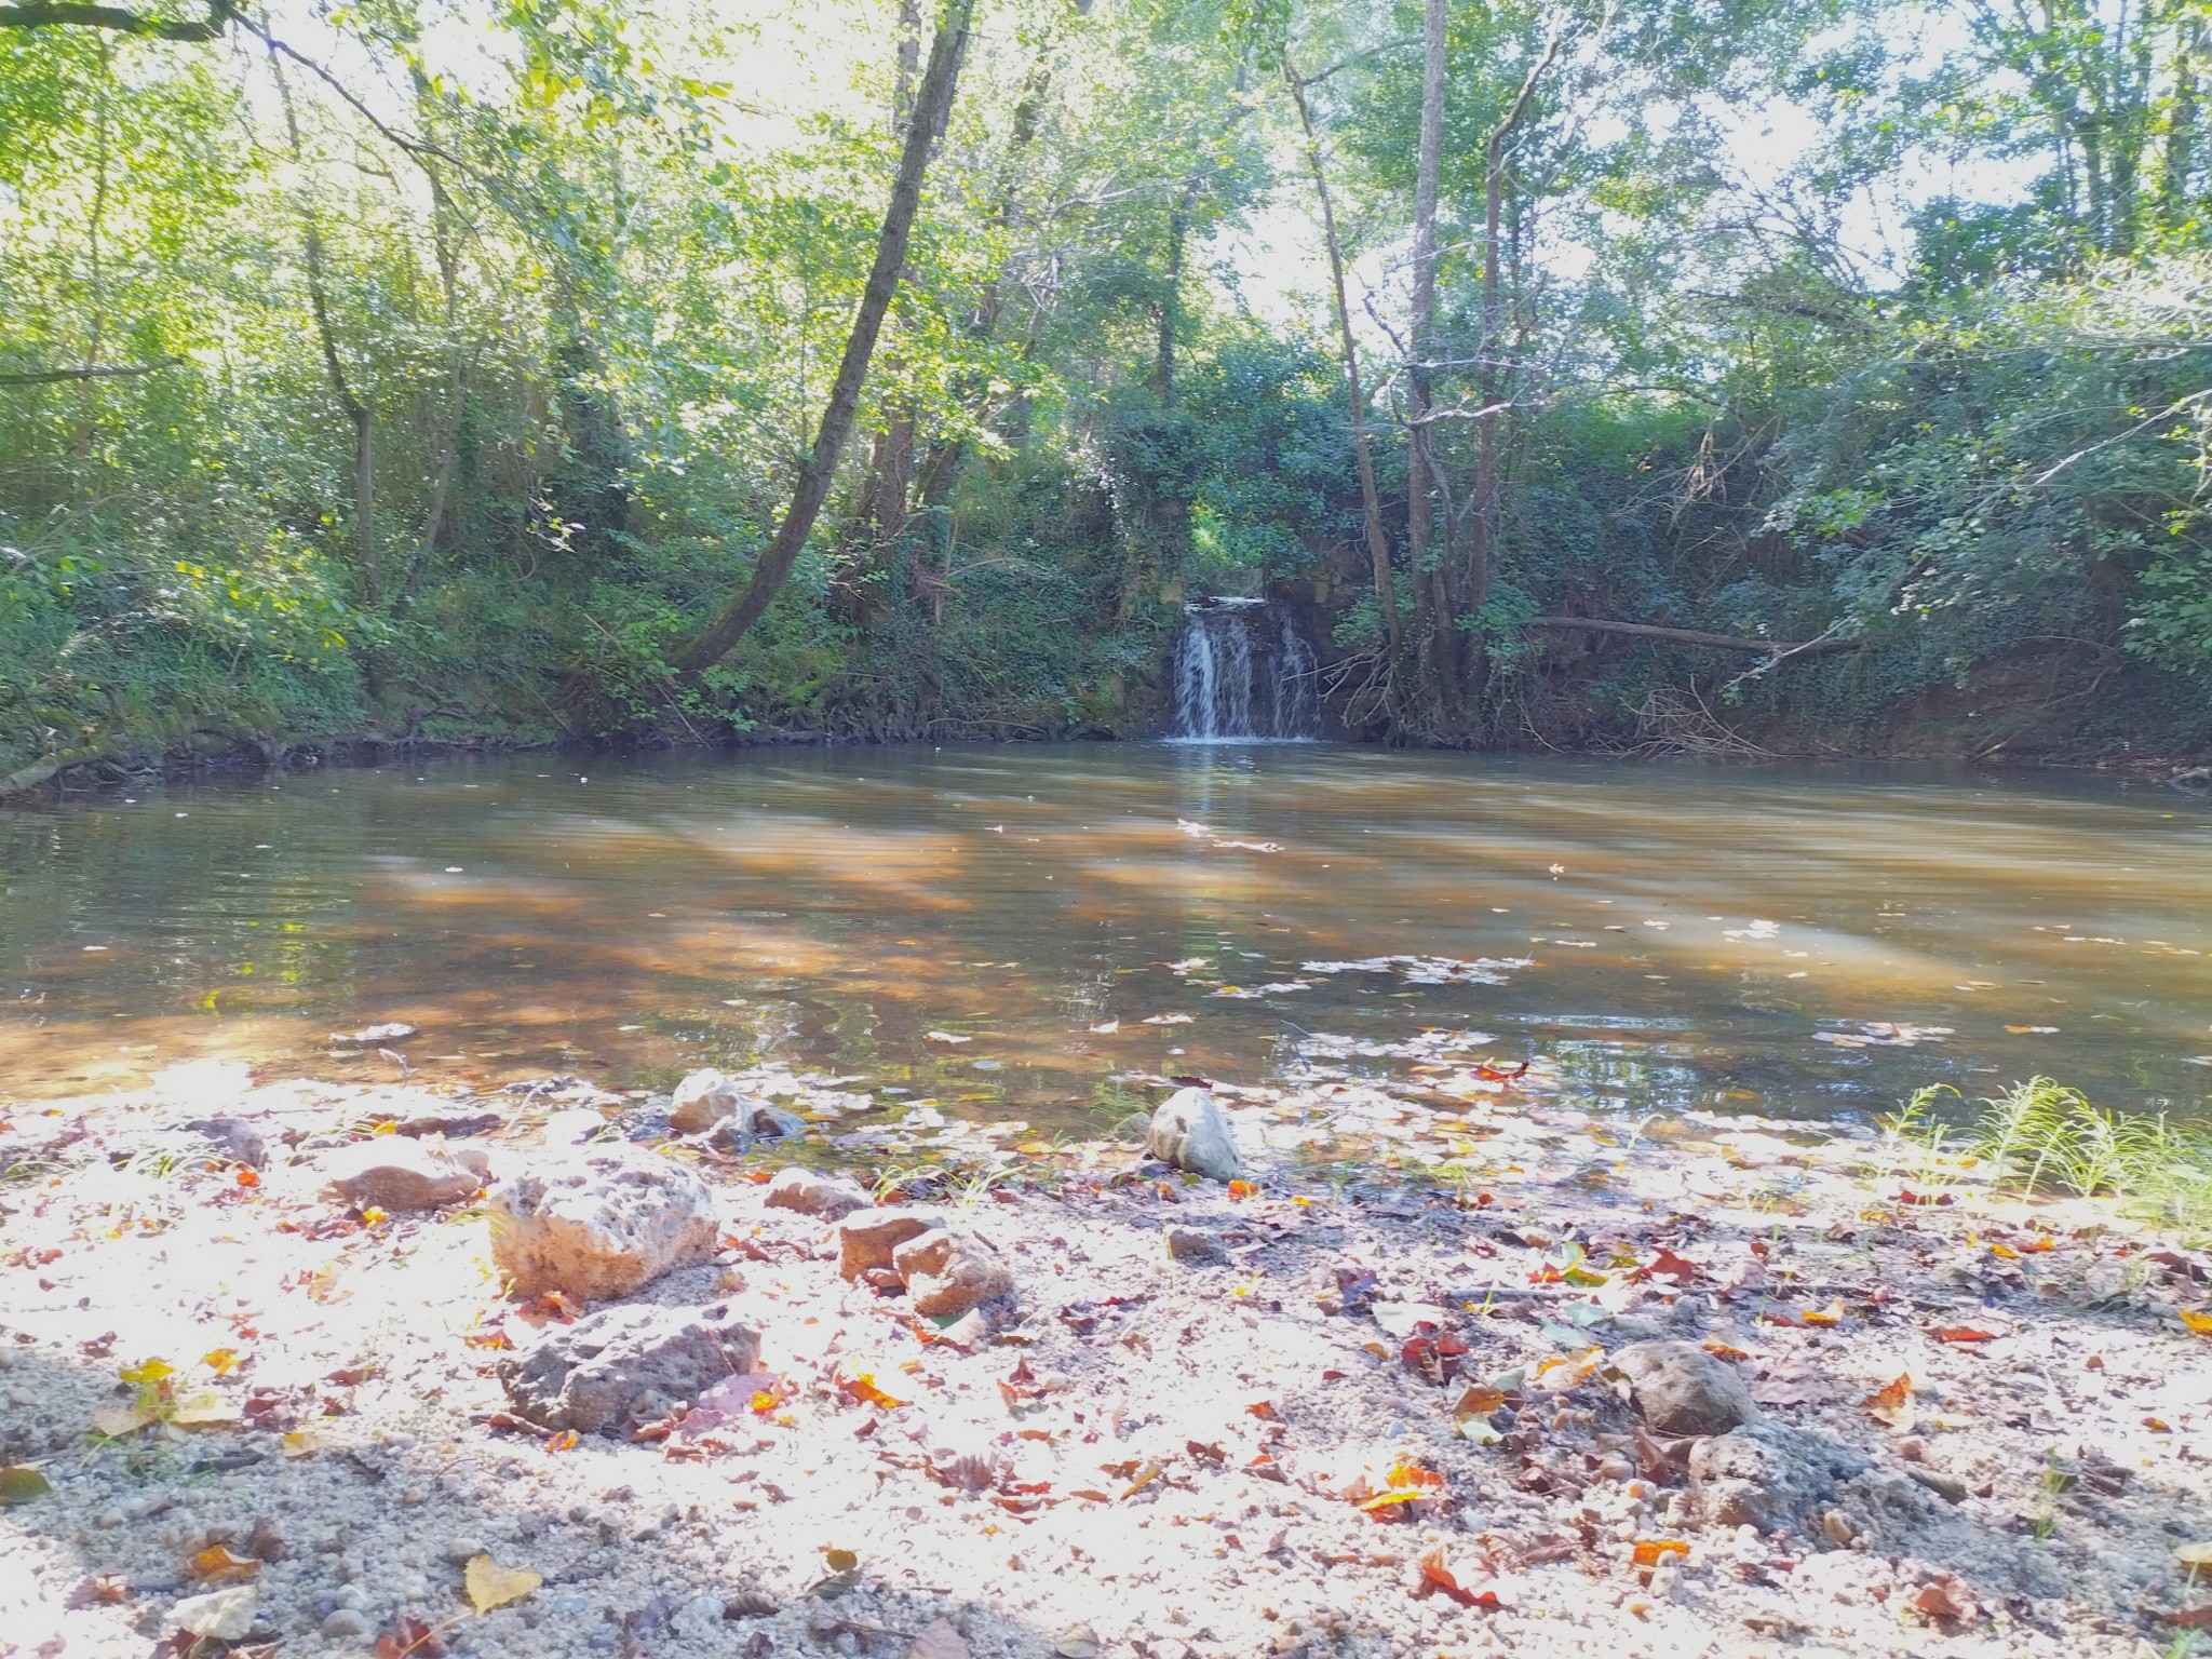
[[1206,599],[1168,657],[1172,739],[1265,743],[1321,730],[1321,664],[1287,615],[1263,599]]

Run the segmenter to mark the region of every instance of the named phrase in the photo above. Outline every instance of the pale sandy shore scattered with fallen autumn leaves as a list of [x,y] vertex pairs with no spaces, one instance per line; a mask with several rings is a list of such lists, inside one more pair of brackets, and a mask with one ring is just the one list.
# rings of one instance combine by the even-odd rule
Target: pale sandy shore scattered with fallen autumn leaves
[[[1237,1188],[787,1073],[750,1082],[805,1130],[752,1159],[573,1079],[179,1068],[0,1113],[0,1655],[2168,1659],[2212,1632],[2201,1248],[1865,1126],[1630,1133],[1449,1033],[1303,1064],[1219,1088]],[[502,1296],[476,1199],[323,1192],[394,1128],[484,1148],[495,1188],[580,1108],[712,1186],[717,1259],[630,1301],[761,1332],[734,1418],[531,1429],[493,1367],[580,1310]],[[845,1283],[832,1228],[763,1206],[787,1161],[933,1201],[1013,1294],[940,1327]],[[1730,1440],[1765,1464],[1641,1418],[1613,1356],[1652,1340],[1747,1387],[1765,1427]],[[223,1635],[175,1635],[226,1588],[188,1615]]]

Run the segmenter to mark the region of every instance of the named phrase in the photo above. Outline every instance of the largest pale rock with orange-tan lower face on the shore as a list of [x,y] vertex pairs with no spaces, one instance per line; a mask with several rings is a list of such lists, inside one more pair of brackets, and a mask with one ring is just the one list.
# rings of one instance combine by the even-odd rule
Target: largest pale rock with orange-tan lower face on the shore
[[491,1201],[491,1261],[524,1296],[628,1296],[712,1256],[714,1234],[706,1181],[619,1141],[524,1164]]

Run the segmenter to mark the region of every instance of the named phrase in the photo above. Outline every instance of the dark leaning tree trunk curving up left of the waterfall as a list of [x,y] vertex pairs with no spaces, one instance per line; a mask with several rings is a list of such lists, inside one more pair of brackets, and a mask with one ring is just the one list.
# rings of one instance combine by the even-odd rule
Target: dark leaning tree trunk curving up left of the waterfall
[[852,436],[854,411],[860,405],[867,361],[876,352],[883,316],[891,307],[891,294],[898,290],[898,270],[907,263],[907,239],[914,232],[914,215],[922,204],[929,148],[951,115],[971,11],[973,0],[947,0],[938,35],[929,46],[929,69],[922,71],[922,84],[914,97],[914,122],[907,126],[907,144],[898,157],[898,179],[891,184],[891,201],[883,210],[876,263],[867,274],[867,288],[860,292],[860,312],[854,316],[852,334],[845,341],[845,358],[838,363],[836,380],[830,387],[830,403],[814,434],[814,449],[799,465],[792,504],[783,513],[783,522],[761,553],[759,564],[754,564],[752,582],[745,584],[745,591],[677,657],[677,666],[686,672],[697,672],[721,661],[730,653],[730,646],[761,619],[761,613],[768,611],[792,573],[792,564],[799,562],[799,549],[805,546],[807,533],[814,529],[814,520],[821,518],[823,502],[830,498],[836,458],[845,447],[845,438]]

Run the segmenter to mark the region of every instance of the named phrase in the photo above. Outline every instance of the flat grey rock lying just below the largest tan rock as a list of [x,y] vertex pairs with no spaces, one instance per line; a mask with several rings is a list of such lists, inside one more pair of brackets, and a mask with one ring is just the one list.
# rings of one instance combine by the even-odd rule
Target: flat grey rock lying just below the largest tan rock
[[728,1303],[712,1307],[606,1307],[553,1325],[522,1354],[502,1356],[500,1385],[515,1413],[546,1429],[624,1429],[641,1402],[666,1416],[717,1383],[750,1371],[761,1338]]

